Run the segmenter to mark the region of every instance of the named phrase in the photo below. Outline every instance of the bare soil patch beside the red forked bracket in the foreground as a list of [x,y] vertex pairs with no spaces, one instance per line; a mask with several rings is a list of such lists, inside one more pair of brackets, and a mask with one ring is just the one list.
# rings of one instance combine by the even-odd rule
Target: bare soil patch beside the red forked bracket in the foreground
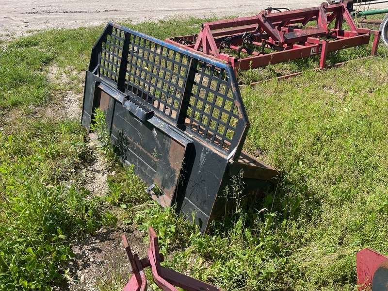
[[[95,290],[97,287],[124,286],[129,280],[129,260],[125,252],[122,235],[126,234],[132,253],[140,258],[147,255],[146,234],[138,230],[100,229],[96,236],[86,236],[82,241],[72,242],[76,257],[68,268],[70,276],[67,289]],[[119,282],[116,282],[119,281]]]

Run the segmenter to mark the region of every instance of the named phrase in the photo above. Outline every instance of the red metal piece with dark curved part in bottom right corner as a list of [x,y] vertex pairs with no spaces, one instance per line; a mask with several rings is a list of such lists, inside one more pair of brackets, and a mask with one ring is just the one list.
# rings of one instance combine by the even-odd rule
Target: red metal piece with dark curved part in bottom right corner
[[[388,257],[370,248],[359,251],[356,257],[358,289],[364,290],[372,284],[373,291],[387,291],[388,286],[386,284],[388,283],[388,278],[384,277],[383,274],[388,272]],[[385,285],[385,289],[379,288],[380,285],[383,288]]]

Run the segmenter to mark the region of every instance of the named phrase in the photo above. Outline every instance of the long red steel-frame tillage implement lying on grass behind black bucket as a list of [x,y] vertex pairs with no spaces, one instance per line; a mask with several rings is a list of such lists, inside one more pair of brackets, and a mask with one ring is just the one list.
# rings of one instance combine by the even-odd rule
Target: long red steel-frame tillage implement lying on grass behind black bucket
[[[306,28],[310,21],[316,21],[317,25]],[[334,21],[334,28],[330,29],[329,26]],[[344,21],[349,30],[342,30]],[[343,3],[328,5],[324,2],[319,7],[279,13],[264,10],[256,16],[206,22],[199,34],[167,38],[165,41],[223,60],[232,65],[237,74],[238,70],[319,54],[320,67],[323,68],[328,52],[368,44],[371,34],[375,35],[371,53],[375,55],[381,32],[357,28]],[[246,44],[262,51],[248,49],[244,46]],[[239,54],[245,52],[252,56],[237,58],[222,53],[225,47],[236,50]],[[271,48],[274,52],[265,53],[264,47]]]

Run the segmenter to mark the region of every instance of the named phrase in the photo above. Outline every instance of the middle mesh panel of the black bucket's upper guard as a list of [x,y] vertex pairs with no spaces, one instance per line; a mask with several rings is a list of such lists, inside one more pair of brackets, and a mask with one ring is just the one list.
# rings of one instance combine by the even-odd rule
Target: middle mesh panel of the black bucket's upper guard
[[173,119],[178,118],[190,58],[131,35],[127,89]]

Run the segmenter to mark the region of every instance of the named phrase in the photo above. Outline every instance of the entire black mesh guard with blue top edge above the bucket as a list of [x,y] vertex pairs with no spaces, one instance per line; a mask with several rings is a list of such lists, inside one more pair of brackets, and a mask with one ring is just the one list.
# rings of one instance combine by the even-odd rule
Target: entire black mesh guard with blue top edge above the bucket
[[240,144],[247,118],[230,67],[117,25],[94,49],[101,77],[174,126],[229,153]]

